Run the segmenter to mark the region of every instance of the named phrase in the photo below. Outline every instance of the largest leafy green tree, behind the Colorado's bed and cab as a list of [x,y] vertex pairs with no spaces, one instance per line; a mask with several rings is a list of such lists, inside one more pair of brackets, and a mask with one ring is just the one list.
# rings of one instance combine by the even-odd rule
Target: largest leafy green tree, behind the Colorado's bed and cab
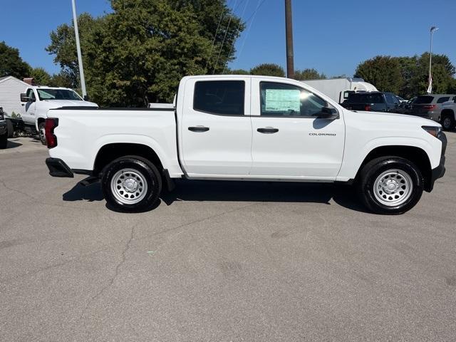
[[[172,100],[183,76],[222,73],[244,29],[226,0],[111,0],[111,6],[113,13],[100,18],[78,18],[88,93],[100,105]],[[47,50],[77,84],[73,26],[53,31]]]

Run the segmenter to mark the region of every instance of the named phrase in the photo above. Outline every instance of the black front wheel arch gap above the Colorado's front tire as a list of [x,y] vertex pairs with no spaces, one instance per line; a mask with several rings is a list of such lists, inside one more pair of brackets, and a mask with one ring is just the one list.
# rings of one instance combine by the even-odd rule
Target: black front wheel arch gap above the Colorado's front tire
[[371,160],[374,160],[375,158],[385,156],[402,157],[406,160],[410,160],[410,162],[413,162],[413,164],[415,164],[418,169],[420,169],[420,172],[423,175],[425,191],[430,191],[432,177],[430,159],[425,150],[415,146],[385,145],[375,147],[373,150],[371,150],[371,152],[368,153],[368,155],[366,155],[360,167],[358,167],[358,172],[356,172],[355,179],[358,178],[364,165],[366,165]]

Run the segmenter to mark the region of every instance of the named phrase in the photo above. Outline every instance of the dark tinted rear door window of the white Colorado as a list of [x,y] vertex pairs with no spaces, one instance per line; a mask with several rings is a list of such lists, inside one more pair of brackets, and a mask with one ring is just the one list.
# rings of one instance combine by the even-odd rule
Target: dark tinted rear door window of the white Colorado
[[244,115],[244,81],[198,81],[193,109],[216,115]]

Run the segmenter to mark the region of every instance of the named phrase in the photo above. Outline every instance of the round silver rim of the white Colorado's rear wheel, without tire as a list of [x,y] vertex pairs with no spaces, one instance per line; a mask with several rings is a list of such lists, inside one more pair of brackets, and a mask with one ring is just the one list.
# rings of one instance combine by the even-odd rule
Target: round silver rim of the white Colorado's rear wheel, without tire
[[111,178],[111,192],[123,204],[141,202],[147,194],[147,182],[141,172],[134,169],[122,169]]

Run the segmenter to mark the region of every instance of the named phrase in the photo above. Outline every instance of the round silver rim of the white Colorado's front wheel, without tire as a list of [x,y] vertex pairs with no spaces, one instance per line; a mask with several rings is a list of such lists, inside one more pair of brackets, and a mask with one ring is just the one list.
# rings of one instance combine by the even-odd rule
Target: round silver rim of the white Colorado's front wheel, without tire
[[378,175],[373,185],[375,199],[387,207],[405,203],[413,192],[413,181],[403,170],[386,170]]

